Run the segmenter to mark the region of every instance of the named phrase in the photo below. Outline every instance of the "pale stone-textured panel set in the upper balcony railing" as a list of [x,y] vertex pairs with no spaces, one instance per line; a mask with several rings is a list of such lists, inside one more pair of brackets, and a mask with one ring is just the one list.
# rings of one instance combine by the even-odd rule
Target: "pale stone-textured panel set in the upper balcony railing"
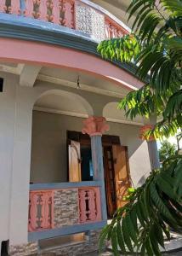
[[105,15],[83,3],[76,3],[76,29],[93,35],[99,40],[105,39]]

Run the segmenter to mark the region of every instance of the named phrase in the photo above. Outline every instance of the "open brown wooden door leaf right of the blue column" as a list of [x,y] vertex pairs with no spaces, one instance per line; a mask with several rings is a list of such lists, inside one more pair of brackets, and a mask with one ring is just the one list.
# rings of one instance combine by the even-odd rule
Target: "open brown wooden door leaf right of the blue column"
[[119,208],[127,203],[123,201],[123,196],[128,195],[128,188],[131,187],[128,170],[128,148],[121,145],[113,145],[112,154],[115,170],[116,201],[117,208]]

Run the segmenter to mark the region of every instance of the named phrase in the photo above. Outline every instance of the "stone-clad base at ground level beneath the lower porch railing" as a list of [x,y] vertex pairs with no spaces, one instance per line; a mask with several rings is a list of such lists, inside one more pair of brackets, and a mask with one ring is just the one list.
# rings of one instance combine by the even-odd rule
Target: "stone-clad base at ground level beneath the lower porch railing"
[[60,247],[49,248],[43,251],[38,250],[37,243],[28,243],[26,245],[11,246],[10,256],[79,256],[99,250],[100,230],[91,230],[85,241],[74,244],[68,243]]

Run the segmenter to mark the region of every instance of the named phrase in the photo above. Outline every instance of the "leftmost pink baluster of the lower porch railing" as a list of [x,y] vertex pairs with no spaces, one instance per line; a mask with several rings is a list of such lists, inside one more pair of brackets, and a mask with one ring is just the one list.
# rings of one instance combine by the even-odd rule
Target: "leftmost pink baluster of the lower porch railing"
[[28,230],[35,231],[37,230],[37,194],[35,192],[30,193],[30,219]]

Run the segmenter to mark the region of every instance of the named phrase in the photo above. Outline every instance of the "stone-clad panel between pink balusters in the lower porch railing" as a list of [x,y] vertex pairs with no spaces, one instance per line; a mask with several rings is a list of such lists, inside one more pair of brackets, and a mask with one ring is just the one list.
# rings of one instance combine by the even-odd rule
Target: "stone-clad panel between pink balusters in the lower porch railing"
[[61,189],[54,191],[54,228],[78,224],[78,190]]

